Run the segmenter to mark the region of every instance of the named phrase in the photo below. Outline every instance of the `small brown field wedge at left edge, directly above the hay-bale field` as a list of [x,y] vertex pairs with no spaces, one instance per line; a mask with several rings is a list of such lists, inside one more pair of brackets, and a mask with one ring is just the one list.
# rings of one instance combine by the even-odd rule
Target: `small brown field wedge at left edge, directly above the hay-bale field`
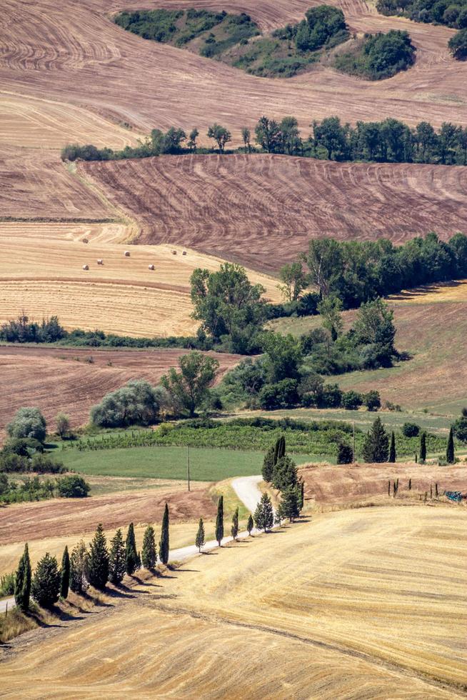
[[0,149],[0,219],[114,219],[99,196],[72,176],[56,151]]

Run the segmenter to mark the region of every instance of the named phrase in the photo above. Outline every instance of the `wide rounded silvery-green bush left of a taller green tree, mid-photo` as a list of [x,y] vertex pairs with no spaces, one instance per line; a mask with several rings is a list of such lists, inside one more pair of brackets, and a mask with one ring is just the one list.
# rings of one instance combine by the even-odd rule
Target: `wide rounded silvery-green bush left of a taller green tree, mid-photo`
[[165,392],[145,379],[132,379],[91,409],[91,423],[105,428],[151,425],[159,419]]

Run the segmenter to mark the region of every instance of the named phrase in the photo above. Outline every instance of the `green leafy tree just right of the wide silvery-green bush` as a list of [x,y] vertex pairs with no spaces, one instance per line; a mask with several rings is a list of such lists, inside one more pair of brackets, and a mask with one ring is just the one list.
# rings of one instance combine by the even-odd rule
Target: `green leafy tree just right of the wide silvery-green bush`
[[177,372],[174,367],[161,377],[161,384],[174,401],[175,406],[194,416],[196,408],[209,396],[209,387],[216,379],[219,362],[213,357],[193,351],[179,357]]

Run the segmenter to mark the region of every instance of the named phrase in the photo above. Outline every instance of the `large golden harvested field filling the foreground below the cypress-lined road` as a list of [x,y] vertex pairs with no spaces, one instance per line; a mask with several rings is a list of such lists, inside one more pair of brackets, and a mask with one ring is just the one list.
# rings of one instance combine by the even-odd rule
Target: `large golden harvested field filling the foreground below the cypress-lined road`
[[136,599],[11,643],[4,696],[461,696],[466,515],[341,511],[202,556]]

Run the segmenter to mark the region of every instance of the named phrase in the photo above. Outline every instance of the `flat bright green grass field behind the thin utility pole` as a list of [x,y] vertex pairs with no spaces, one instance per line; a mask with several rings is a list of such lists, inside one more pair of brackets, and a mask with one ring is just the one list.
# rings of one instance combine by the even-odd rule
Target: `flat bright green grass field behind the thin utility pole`
[[[129,447],[99,451],[57,451],[68,469],[99,476],[136,476],[186,479],[186,447]],[[263,452],[190,448],[193,481],[221,481],[234,476],[261,474]],[[323,456],[293,454],[296,464],[325,461]],[[331,461],[326,459],[326,461]]]

